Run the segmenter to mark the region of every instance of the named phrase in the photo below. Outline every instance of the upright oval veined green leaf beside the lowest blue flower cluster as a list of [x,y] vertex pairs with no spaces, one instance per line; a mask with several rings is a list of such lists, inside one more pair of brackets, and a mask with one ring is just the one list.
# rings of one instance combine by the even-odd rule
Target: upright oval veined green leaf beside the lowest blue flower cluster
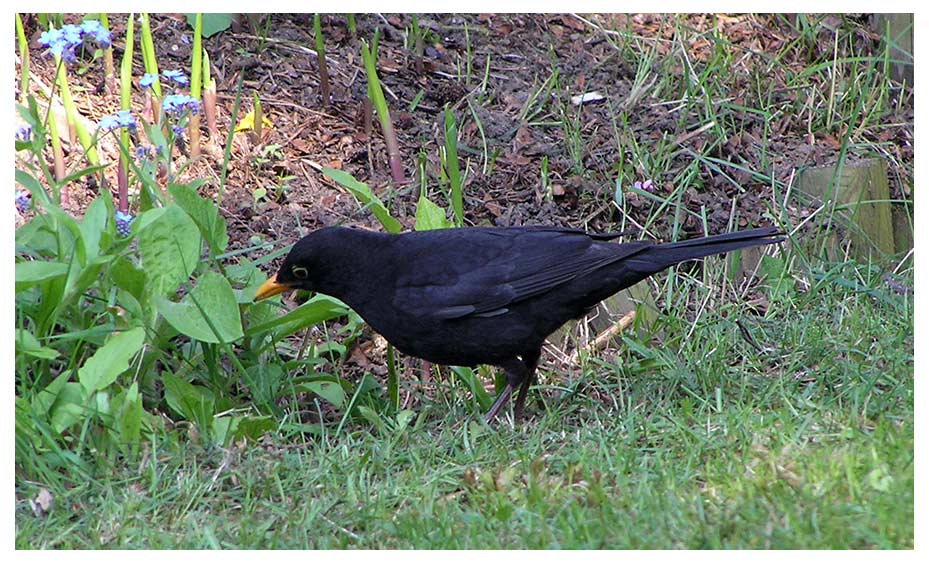
[[200,233],[193,220],[176,205],[164,210],[139,233],[139,255],[152,296],[176,290],[200,258]]

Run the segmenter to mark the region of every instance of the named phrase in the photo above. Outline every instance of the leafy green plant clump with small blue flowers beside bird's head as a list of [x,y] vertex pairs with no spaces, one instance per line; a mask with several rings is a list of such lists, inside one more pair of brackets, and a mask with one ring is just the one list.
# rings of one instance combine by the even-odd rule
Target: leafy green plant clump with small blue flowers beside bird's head
[[[147,73],[140,86],[160,110],[147,123],[129,109],[133,23],[130,17],[120,69],[123,110],[104,116],[92,136],[112,136],[119,147],[118,204],[104,191],[80,220],[65,212],[55,197],[60,186],[107,165],[56,176],[41,158],[49,143],[45,124],[53,120],[31,97],[18,107],[28,128],[17,140],[23,156],[15,179],[33,213],[16,231],[17,465],[35,471],[88,468],[89,456],[137,453],[147,436],[164,430],[156,411],[222,444],[273,428],[282,398],[314,392],[341,405],[332,386],[350,389],[330,374],[286,378],[286,365],[266,362],[295,354],[290,370],[312,366],[306,350],[281,340],[348,310],[320,298],[277,316],[274,304],[252,303],[260,263],[229,263],[237,253],[227,252],[216,203],[198,193],[204,180],[178,181],[188,163],[172,148],[199,104],[155,90],[162,79],[177,88],[187,78]],[[130,202],[133,184],[139,196]],[[348,326],[360,331],[360,322]]]

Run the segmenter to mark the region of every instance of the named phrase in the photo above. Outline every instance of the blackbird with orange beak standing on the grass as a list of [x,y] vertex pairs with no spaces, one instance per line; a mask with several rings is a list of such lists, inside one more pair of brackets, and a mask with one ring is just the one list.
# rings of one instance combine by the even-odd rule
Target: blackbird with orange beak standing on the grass
[[676,243],[609,242],[619,233],[472,227],[385,234],[325,227],[298,241],[255,293],[319,292],[354,309],[401,352],[453,366],[491,364],[518,389],[519,419],[545,338],[601,300],[686,260],[783,241],[775,227]]

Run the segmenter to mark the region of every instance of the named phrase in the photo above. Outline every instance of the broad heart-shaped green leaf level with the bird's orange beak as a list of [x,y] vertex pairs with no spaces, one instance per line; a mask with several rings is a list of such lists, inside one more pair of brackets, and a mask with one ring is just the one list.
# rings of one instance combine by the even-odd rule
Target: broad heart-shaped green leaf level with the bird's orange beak
[[155,308],[172,327],[198,341],[229,343],[242,337],[242,320],[232,286],[215,272],[203,273],[180,302],[156,297]]

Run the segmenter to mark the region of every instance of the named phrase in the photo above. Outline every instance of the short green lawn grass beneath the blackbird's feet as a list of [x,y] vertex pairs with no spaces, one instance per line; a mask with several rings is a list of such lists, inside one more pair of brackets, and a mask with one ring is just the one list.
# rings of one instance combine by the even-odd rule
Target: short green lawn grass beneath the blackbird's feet
[[912,305],[835,283],[856,276],[879,283],[840,266],[763,318],[723,303],[691,323],[681,310],[718,285],[669,278],[663,344],[627,337],[573,381],[546,371],[576,393],[531,398],[516,428],[489,429],[459,394],[399,424],[231,450],[176,430],[141,462],[66,479],[45,517],[26,501],[39,485],[18,479],[16,544],[912,547]]

